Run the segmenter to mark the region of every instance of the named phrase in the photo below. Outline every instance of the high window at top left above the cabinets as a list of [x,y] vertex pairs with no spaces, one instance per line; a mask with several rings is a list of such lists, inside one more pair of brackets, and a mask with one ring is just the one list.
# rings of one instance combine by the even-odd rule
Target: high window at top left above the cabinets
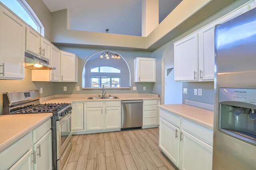
[[44,27],[25,0],[0,0],[28,25],[44,36]]

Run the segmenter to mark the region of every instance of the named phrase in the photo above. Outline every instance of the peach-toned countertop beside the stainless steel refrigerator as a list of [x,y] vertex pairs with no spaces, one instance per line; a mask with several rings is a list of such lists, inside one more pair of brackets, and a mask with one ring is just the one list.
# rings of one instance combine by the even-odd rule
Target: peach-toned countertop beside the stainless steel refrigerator
[[174,115],[213,130],[213,111],[186,104],[158,105]]

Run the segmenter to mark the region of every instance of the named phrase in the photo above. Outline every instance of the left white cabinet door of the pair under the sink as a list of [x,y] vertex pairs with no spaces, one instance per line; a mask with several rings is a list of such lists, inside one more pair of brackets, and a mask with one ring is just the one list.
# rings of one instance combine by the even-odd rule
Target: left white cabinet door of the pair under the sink
[[103,108],[86,109],[87,130],[103,129]]

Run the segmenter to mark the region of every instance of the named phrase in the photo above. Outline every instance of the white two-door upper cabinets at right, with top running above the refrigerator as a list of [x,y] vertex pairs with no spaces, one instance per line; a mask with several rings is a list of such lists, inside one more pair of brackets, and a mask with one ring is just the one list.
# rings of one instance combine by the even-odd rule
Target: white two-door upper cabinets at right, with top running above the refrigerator
[[[214,81],[214,28],[247,10],[245,5],[174,43],[175,81]],[[198,39],[197,39],[198,35]]]

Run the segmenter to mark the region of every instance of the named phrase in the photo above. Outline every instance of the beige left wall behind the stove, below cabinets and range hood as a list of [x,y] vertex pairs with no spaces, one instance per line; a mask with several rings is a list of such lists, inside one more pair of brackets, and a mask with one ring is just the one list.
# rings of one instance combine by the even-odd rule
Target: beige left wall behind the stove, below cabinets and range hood
[[40,94],[41,97],[55,94],[53,82],[32,82],[31,73],[32,71],[30,69],[25,69],[24,80],[0,80],[0,115],[2,115],[2,94],[4,92],[40,90],[40,87],[43,87],[43,93]]

